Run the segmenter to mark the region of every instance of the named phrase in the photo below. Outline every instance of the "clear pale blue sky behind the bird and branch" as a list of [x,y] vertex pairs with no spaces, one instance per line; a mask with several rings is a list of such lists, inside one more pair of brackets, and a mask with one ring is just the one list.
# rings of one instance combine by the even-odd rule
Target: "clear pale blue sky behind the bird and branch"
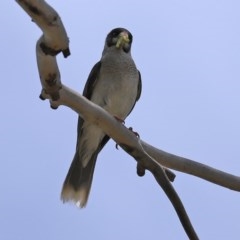
[[[240,174],[239,0],[48,1],[72,55],[62,81],[82,92],[107,33],[129,29],[143,91],[126,121],[170,153]],[[0,239],[187,239],[150,173],[113,141],[98,157],[87,208],[60,201],[76,144],[77,115],[38,96],[38,27],[1,1]],[[176,172],[174,187],[200,239],[240,239],[240,193]]]

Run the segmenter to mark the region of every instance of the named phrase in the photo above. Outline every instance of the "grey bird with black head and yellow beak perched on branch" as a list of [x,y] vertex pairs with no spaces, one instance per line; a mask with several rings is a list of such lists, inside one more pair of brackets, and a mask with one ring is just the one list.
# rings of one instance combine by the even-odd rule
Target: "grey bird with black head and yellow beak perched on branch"
[[[118,120],[124,120],[141,95],[141,75],[131,56],[132,34],[113,29],[106,37],[101,60],[92,68],[83,96]],[[108,142],[99,127],[78,119],[76,153],[64,181],[61,198],[85,207],[97,156]]]

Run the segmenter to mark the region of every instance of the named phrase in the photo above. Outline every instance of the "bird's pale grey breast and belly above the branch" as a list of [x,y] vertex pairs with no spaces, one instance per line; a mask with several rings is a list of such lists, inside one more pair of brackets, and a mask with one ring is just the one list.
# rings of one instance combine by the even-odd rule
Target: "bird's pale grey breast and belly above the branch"
[[112,115],[125,119],[137,96],[139,75],[130,54],[103,56],[91,100]]

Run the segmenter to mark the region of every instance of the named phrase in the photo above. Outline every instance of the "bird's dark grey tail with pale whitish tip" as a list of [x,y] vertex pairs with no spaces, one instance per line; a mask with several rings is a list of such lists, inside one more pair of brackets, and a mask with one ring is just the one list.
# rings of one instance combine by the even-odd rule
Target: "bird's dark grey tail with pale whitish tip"
[[86,166],[76,151],[72,164],[63,183],[61,199],[63,202],[73,201],[78,207],[85,207],[92,185],[93,172],[97,153],[93,154]]

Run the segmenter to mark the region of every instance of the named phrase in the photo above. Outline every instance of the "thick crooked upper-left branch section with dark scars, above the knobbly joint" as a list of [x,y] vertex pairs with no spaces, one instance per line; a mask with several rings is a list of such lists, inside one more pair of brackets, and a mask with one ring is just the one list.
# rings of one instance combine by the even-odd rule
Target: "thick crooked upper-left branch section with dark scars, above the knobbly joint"
[[57,100],[61,79],[55,56],[59,52],[62,52],[64,57],[70,55],[69,39],[61,18],[44,0],[16,0],[16,2],[44,32],[36,45],[38,71],[43,87],[40,98],[44,99],[47,92],[53,100]]

